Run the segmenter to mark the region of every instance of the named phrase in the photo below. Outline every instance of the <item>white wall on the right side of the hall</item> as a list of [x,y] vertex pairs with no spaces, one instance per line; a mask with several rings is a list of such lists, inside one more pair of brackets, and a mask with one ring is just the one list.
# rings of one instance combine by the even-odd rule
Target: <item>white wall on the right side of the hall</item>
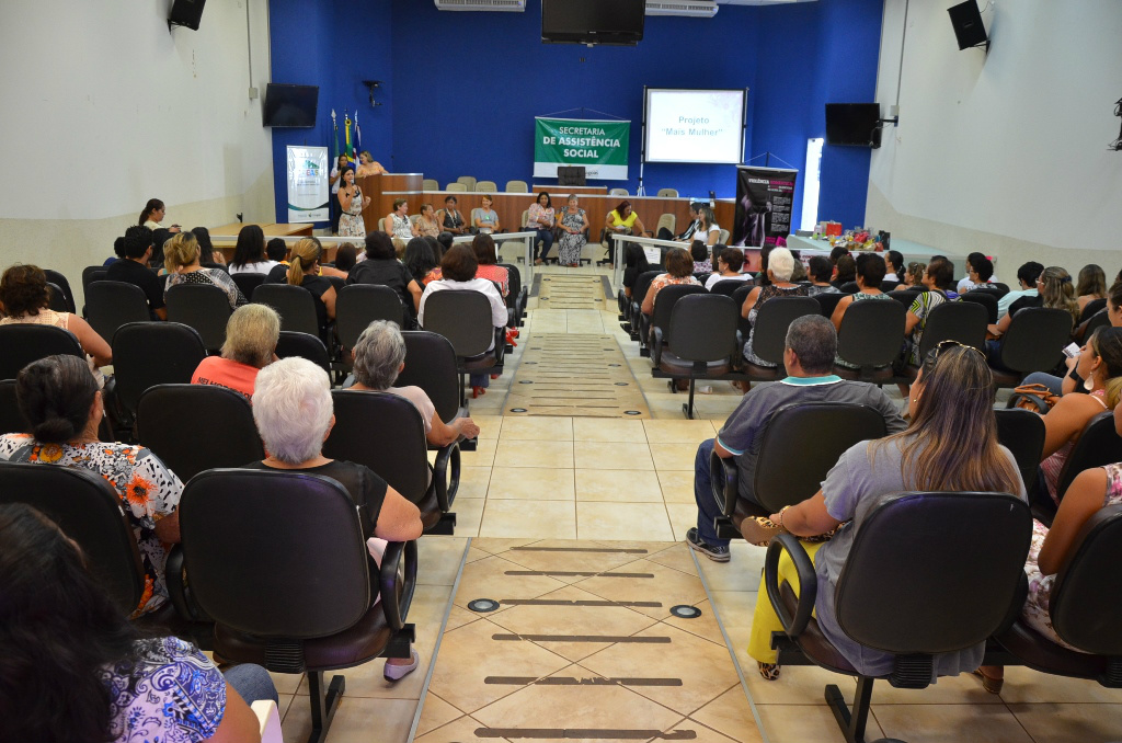
[[[996,0],[988,57],[959,52],[950,2],[885,0],[877,101],[900,126],[874,150],[866,224],[894,237],[996,255],[1122,267],[1122,2]],[[985,0],[980,1],[985,7]]]

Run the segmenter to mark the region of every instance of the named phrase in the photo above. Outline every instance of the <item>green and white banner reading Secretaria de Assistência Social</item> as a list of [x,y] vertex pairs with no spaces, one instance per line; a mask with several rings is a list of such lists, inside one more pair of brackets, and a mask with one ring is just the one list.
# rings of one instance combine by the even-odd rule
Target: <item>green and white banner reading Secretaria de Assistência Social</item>
[[582,165],[589,181],[626,181],[631,121],[534,119],[534,177],[555,178],[559,165]]

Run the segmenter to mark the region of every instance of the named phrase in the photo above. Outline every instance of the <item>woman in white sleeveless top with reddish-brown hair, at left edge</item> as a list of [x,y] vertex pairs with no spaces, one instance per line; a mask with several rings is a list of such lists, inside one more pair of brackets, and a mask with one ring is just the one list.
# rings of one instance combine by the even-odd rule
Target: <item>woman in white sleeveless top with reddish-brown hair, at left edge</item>
[[82,350],[90,357],[91,368],[113,363],[113,351],[82,318],[71,312],[55,312],[50,309],[50,292],[47,276],[38,266],[16,264],[9,266],[0,277],[0,306],[4,317],[0,325],[29,324],[54,325],[74,333]]

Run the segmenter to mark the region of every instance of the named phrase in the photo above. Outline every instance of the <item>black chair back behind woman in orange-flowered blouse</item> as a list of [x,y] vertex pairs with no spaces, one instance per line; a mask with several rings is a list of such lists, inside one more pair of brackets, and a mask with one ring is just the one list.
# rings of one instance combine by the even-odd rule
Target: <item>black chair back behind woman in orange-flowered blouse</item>
[[122,614],[140,603],[145,576],[121,499],[105,478],[77,467],[0,462],[0,503],[26,503],[77,542]]

